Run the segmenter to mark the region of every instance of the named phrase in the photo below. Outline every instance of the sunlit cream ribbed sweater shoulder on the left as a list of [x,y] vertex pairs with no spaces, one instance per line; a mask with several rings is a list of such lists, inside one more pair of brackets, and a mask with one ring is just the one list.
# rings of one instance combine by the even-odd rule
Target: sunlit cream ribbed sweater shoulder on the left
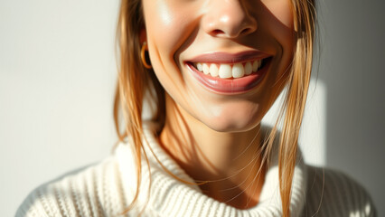
[[111,156],[37,187],[16,217],[108,216],[126,206],[121,187],[117,160]]

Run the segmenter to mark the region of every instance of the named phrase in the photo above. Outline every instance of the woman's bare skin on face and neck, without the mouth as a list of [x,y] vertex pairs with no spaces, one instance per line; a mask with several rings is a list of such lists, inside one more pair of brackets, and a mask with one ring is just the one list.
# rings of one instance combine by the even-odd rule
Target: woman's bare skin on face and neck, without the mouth
[[[141,40],[166,91],[164,149],[212,198],[240,209],[258,203],[260,121],[286,83],[293,58],[293,17],[288,0],[144,0]],[[185,61],[208,52],[254,51],[272,57],[257,87],[226,95],[212,92]]]

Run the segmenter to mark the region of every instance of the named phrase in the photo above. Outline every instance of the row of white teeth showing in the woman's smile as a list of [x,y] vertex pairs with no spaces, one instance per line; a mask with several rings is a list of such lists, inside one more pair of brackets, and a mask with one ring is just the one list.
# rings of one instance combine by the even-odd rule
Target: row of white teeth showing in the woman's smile
[[217,64],[217,63],[194,63],[194,67],[204,74],[210,74],[212,77],[220,77],[221,79],[242,78],[252,72],[258,71],[262,64],[262,60],[238,62],[231,64]]

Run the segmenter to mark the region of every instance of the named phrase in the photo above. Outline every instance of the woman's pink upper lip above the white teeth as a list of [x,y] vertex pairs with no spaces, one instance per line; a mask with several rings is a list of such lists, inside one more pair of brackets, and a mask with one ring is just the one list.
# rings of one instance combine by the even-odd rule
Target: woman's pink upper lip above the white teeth
[[188,60],[188,62],[210,62],[210,63],[236,63],[241,61],[260,60],[269,57],[265,52],[206,52]]

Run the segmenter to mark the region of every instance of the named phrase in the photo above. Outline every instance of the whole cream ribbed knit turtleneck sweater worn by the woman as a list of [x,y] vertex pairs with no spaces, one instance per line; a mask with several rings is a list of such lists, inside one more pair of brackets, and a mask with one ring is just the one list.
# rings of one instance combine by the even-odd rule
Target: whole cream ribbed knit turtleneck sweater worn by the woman
[[[174,175],[193,182],[157,144],[153,130],[151,125],[146,125],[145,137],[159,161]],[[120,144],[114,155],[103,162],[35,189],[19,207],[16,216],[138,216],[141,211],[142,216],[164,217],[282,215],[277,157],[273,157],[275,163],[268,168],[258,205],[239,210],[206,196],[196,185],[177,181],[164,172],[146,148],[150,168],[142,164],[138,203],[125,215],[119,214],[127,209],[135,194],[136,166],[130,146]],[[371,198],[361,185],[341,173],[305,165],[300,154],[290,209],[292,216],[376,216]]]

